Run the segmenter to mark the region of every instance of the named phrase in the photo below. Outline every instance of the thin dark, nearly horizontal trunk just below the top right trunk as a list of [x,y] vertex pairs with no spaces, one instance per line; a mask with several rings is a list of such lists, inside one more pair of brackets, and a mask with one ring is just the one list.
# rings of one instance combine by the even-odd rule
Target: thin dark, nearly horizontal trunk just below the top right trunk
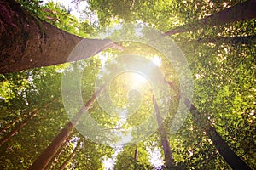
[[207,37],[189,41],[189,43],[231,43],[231,44],[255,44],[256,36],[245,37]]

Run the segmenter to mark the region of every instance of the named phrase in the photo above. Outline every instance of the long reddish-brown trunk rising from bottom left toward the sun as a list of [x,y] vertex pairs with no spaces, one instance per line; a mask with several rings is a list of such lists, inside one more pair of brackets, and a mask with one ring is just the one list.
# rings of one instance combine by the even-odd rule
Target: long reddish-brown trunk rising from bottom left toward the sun
[[61,144],[65,142],[70,133],[73,132],[73,128],[79,124],[79,119],[83,116],[84,111],[88,111],[90,106],[96,100],[96,97],[102,93],[102,90],[105,88],[103,86],[100,88],[93,96],[89,99],[89,101],[80,109],[78,114],[73,117],[73,121],[67,122],[66,127],[64,127],[60,133],[55,136],[55,139],[49,144],[49,146],[41,153],[36,161],[29,167],[30,170],[39,170],[44,169],[47,166],[49,161],[55,156],[55,152],[61,148]]

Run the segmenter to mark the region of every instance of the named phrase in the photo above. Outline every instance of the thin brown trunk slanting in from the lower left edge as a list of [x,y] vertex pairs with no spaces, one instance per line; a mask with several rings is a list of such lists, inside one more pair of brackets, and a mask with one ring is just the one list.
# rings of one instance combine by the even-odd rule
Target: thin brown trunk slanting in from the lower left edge
[[[49,103],[44,105],[44,107],[48,107]],[[3,145],[4,143],[8,142],[11,137],[15,136],[16,133],[20,131],[22,127],[25,127],[27,122],[29,122],[34,116],[38,114],[38,111],[40,109],[36,109],[36,111],[33,111],[29,116],[26,117],[26,119],[22,122],[20,122],[11,132],[9,132],[3,139],[0,139],[0,145]]]

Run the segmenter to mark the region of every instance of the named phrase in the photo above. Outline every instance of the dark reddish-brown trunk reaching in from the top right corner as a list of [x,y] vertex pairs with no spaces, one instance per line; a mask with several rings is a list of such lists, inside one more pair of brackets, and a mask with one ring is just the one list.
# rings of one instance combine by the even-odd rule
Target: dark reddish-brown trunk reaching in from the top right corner
[[205,26],[219,26],[229,22],[240,20],[248,20],[256,17],[256,0],[248,0],[243,3],[238,3],[233,7],[224,9],[217,14],[212,14],[201,20],[195,21],[192,24],[177,26],[171,31],[167,31],[166,35],[182,33],[186,31],[195,31]]

